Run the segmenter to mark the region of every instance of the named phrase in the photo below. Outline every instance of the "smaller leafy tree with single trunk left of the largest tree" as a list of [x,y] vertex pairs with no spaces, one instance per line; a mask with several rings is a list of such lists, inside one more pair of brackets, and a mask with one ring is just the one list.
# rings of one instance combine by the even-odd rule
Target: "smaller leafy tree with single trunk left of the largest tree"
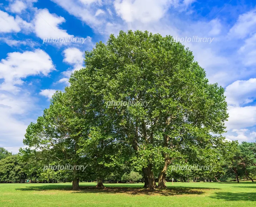
[[[81,157],[78,150],[81,137],[86,137],[87,129],[84,122],[79,122],[78,116],[82,114],[74,108],[74,101],[68,92],[56,92],[49,109],[27,128],[23,141],[29,146],[27,152],[31,152],[31,147],[35,148],[34,152],[40,150],[46,165],[86,165],[86,158]],[[79,176],[74,168],[72,189],[79,189]]]

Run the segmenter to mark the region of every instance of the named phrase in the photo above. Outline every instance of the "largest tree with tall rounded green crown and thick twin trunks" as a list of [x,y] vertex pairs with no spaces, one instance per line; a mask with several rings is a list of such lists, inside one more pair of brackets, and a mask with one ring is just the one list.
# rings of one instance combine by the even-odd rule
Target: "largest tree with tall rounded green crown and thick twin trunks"
[[[164,187],[168,165],[177,157],[196,158],[200,149],[223,143],[224,89],[209,84],[191,51],[171,36],[121,31],[86,52],[85,63],[73,78],[80,91],[90,88],[94,94],[99,120],[111,122],[109,133],[135,150],[145,187],[156,187],[155,171]],[[148,105],[106,108],[111,101]]]

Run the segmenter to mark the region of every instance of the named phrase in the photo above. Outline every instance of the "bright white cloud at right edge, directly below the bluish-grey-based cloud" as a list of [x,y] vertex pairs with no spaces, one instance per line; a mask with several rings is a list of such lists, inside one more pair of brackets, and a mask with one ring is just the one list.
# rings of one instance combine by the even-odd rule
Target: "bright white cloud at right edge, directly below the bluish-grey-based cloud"
[[244,129],[256,125],[256,106],[228,106],[227,130]]

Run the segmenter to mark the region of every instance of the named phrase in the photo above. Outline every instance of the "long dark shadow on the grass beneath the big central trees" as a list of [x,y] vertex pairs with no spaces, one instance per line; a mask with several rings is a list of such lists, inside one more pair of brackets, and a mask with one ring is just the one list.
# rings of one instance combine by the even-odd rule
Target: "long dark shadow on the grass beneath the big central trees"
[[72,193],[126,193],[130,195],[183,195],[183,194],[197,194],[201,195],[205,191],[216,188],[199,188],[199,187],[168,187],[166,189],[149,190],[138,187],[105,187],[98,189],[93,186],[81,186],[80,190],[72,191],[70,185],[45,185],[45,186],[28,186],[26,188],[16,188],[18,191],[48,191],[48,190],[60,190],[60,191],[72,191]]

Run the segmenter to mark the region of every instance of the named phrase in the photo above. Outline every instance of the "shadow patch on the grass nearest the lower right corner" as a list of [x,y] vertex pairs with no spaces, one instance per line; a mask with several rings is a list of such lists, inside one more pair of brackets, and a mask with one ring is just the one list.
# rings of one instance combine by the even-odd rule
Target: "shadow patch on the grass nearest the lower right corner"
[[210,198],[226,201],[256,201],[256,193],[217,192],[214,196],[210,196]]

